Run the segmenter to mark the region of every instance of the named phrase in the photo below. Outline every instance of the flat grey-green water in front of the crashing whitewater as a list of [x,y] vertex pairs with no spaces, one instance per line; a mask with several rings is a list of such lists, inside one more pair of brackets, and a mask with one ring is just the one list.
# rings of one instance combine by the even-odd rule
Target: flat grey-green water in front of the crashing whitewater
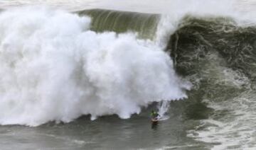
[[146,113],[129,120],[81,117],[68,124],[4,126],[0,144],[2,149],[206,149],[186,137],[186,130],[194,125],[196,121],[174,114],[158,125],[151,125]]

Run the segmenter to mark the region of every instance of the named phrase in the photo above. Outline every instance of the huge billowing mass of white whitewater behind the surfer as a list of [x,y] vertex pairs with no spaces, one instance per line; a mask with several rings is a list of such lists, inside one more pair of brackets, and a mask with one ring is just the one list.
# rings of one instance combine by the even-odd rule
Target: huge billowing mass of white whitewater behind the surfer
[[154,41],[95,33],[90,23],[48,8],[0,14],[1,125],[89,114],[128,118],[154,101],[186,98],[170,57]]

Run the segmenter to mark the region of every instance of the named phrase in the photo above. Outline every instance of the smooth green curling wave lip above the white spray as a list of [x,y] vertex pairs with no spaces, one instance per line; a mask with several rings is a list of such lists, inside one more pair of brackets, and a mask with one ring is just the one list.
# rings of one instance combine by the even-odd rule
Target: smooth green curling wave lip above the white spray
[[139,37],[154,39],[160,16],[149,13],[133,13],[92,9],[78,11],[80,16],[90,16],[91,30],[96,32],[114,31],[115,33],[137,32]]

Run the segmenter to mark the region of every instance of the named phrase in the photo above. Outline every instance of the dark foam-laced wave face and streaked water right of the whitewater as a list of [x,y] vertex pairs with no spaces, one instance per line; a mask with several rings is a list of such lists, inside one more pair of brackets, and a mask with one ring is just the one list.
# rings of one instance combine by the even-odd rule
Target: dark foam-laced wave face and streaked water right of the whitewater
[[209,115],[187,115],[201,122],[188,137],[212,149],[255,148],[255,40],[255,26],[232,18],[183,18],[167,50],[177,73],[193,83],[193,106],[211,109]]

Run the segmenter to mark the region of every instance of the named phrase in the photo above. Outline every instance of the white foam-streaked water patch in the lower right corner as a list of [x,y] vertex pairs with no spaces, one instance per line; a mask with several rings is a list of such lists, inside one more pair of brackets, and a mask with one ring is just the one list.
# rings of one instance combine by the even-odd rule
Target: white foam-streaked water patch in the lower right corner
[[[208,120],[188,131],[188,137],[213,144],[213,150],[255,148],[255,92],[246,91],[236,98],[208,102],[218,108]],[[221,113],[224,112],[224,113]]]

